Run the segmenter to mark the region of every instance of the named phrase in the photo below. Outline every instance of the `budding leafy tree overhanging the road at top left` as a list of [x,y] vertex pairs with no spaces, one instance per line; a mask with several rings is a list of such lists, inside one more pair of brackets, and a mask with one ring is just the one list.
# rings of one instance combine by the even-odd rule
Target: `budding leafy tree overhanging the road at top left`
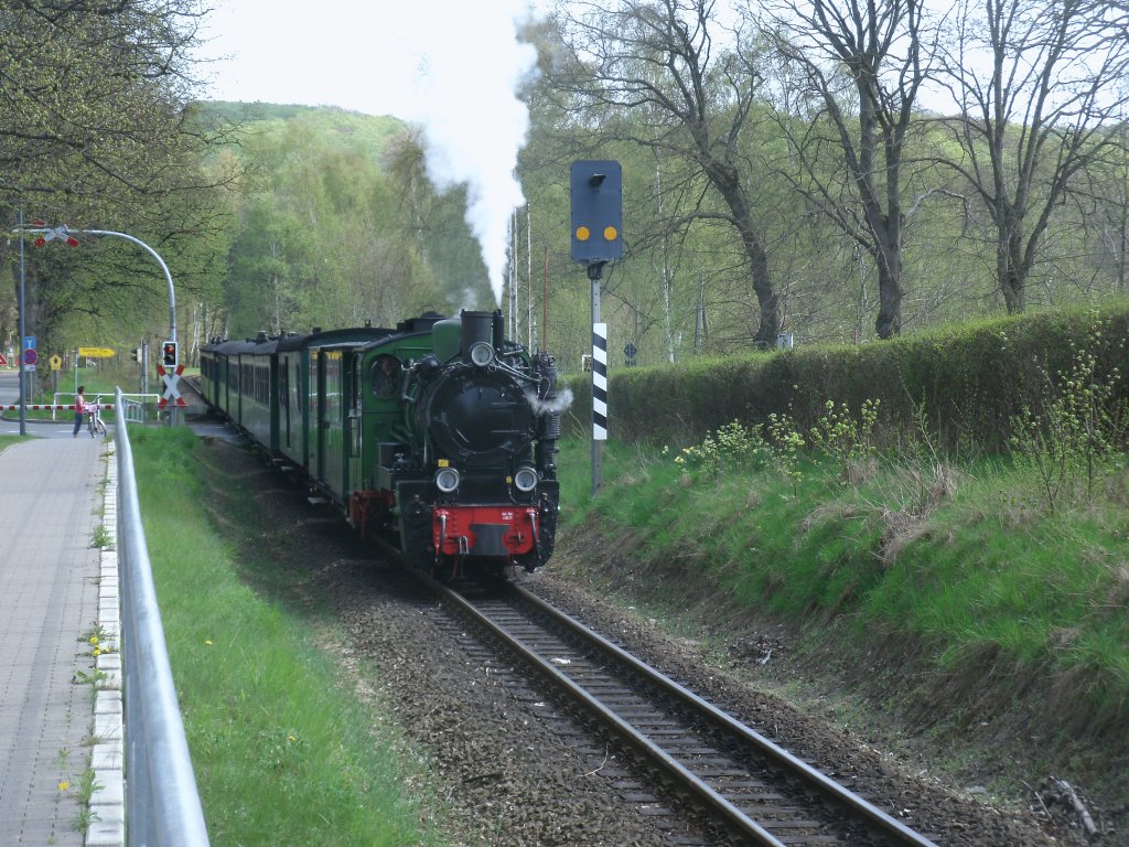
[[[177,272],[207,276],[191,246],[217,213],[202,168],[211,132],[189,105],[201,14],[196,0],[14,0],[0,9],[0,219],[9,228],[23,209],[130,232]],[[164,290],[159,270],[131,250],[33,254],[29,285],[47,288],[28,298],[29,330],[50,337],[68,314],[112,308],[111,291],[137,279],[123,268],[145,264]],[[0,244],[0,261],[11,255]]]

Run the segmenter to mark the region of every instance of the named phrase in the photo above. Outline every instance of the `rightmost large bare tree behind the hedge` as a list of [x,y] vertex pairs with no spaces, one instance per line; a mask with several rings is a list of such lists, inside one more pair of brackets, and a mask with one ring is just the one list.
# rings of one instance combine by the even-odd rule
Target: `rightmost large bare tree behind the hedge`
[[1121,146],[1111,123],[1129,104],[1123,6],[1106,0],[959,0],[939,80],[959,113],[966,180],[994,230],[996,282],[1009,313],[1057,206],[1085,168]]

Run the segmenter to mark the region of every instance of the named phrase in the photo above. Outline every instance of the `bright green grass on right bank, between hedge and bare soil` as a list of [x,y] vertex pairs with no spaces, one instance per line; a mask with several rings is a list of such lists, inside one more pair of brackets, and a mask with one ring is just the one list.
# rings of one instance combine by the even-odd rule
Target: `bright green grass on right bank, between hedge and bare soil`
[[609,443],[592,498],[587,443],[561,446],[564,526],[607,539],[629,530],[648,574],[673,568],[698,590],[715,586],[736,613],[847,622],[860,649],[875,634],[925,645],[937,673],[986,649],[1034,674],[1080,672],[1079,697],[1094,709],[1129,709],[1127,472],[1117,461],[1103,498],[1076,490],[1052,513],[1029,472],[981,460],[913,517],[894,496],[908,469],[893,459],[847,486],[835,463],[811,457],[794,488],[771,468],[715,477]]

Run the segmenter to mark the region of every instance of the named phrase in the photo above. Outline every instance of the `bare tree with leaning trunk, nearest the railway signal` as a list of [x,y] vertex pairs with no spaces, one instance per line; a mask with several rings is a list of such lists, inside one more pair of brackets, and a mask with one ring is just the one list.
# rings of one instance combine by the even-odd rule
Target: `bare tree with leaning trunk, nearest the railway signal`
[[[575,104],[577,121],[604,141],[650,148],[659,160],[692,163],[702,185],[697,204],[665,208],[668,232],[694,220],[723,220],[735,230],[756,295],[755,341],[776,343],[781,325],[764,227],[751,199],[758,168],[742,158],[741,139],[759,80],[736,50],[714,0],[624,0],[611,8],[562,3],[558,26],[570,61],[551,85]],[[630,114],[629,114],[630,113]],[[684,192],[684,182],[664,185]],[[719,203],[706,202],[712,192]]]

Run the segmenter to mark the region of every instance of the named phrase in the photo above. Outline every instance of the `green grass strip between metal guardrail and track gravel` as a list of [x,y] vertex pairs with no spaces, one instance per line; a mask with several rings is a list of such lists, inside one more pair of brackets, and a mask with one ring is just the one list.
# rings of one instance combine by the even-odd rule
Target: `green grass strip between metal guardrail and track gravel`
[[[266,556],[233,552],[239,500],[205,506],[187,429],[131,428],[149,555],[204,817],[215,845],[437,844],[403,788],[412,762],[392,727],[339,684],[309,619],[250,585]],[[235,527],[235,529],[233,529]],[[242,535],[240,535],[242,532]],[[236,560],[238,558],[238,560]],[[332,628],[332,621],[325,621]]]

